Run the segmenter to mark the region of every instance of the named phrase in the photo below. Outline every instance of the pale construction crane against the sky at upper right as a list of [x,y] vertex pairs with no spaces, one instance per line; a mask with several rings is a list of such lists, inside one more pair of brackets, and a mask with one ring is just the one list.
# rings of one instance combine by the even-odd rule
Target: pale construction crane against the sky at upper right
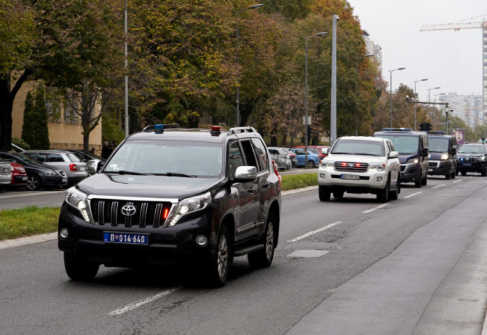
[[482,29],[482,101],[483,115],[482,120],[484,125],[487,124],[487,21],[482,22],[458,22],[448,24],[425,24],[421,26],[420,31],[431,30],[454,30],[460,29]]

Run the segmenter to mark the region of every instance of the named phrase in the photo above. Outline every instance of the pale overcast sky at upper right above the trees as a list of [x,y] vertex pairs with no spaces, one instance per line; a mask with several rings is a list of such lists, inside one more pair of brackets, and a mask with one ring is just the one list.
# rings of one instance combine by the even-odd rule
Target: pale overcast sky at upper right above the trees
[[[348,0],[362,29],[382,48],[382,74],[427,101],[438,93],[482,94],[482,29],[420,31],[424,24],[487,21],[487,0]],[[340,22],[339,22],[340,24]]]

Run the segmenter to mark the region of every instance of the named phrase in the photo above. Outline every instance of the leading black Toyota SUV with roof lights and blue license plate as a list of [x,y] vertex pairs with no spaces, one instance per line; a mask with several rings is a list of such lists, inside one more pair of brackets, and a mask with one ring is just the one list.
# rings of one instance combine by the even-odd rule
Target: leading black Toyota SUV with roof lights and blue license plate
[[190,263],[214,286],[234,256],[269,267],[278,244],[280,178],[253,127],[146,127],[94,176],[67,190],[58,247],[67,275],[99,265]]

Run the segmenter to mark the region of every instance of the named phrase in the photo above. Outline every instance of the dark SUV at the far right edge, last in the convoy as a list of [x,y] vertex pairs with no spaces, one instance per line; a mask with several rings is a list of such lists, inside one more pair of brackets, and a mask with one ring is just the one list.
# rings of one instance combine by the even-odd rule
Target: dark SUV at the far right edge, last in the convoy
[[457,172],[465,176],[467,172],[478,172],[487,176],[487,150],[484,143],[463,144],[457,153]]

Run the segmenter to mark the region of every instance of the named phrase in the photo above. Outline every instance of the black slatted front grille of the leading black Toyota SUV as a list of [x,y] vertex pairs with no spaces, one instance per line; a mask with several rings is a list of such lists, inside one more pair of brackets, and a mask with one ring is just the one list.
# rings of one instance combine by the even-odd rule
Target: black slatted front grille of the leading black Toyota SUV
[[[125,205],[135,208],[134,215],[127,216],[122,213]],[[157,201],[129,201],[94,198],[90,200],[91,215],[95,224],[111,226],[123,225],[125,227],[163,226],[171,210],[170,202]]]

